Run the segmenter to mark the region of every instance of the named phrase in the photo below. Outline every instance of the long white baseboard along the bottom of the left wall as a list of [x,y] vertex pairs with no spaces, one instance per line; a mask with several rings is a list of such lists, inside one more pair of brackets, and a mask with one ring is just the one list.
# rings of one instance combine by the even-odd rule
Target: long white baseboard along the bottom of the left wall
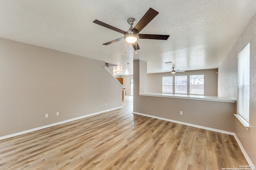
[[70,122],[70,121],[82,119],[82,118],[84,118],[84,117],[89,117],[89,116],[92,116],[92,115],[97,115],[97,114],[100,114],[100,113],[105,113],[105,112],[107,112],[107,111],[112,111],[112,110],[116,110],[116,109],[120,109],[120,108],[122,108],[122,106],[116,107],[116,108],[113,108],[113,109],[104,110],[104,111],[99,111],[99,112],[96,112],[96,113],[91,113],[91,114],[89,114],[89,115],[84,115],[84,116],[80,116],[80,117],[75,117],[75,118],[73,118],[73,119],[68,119],[68,120],[64,120],[64,121],[57,122],[57,123],[52,123],[52,124],[50,124],[50,125],[45,125],[45,126],[41,126],[41,127],[36,127],[36,128],[34,128],[34,129],[29,129],[29,130],[26,130],[26,131],[21,131],[21,132],[18,132],[18,133],[13,133],[13,134],[10,134],[10,135],[6,135],[6,136],[0,137],[0,140],[2,140],[2,139],[7,139],[7,138],[9,138],[9,137],[14,137],[14,136],[22,135],[22,134],[29,133],[29,132],[33,132],[33,131],[37,131],[37,130],[44,129],[44,128],[47,128],[47,127],[52,127],[52,126],[55,126],[55,125],[60,125],[60,124],[62,124],[62,123],[67,123],[67,122]]

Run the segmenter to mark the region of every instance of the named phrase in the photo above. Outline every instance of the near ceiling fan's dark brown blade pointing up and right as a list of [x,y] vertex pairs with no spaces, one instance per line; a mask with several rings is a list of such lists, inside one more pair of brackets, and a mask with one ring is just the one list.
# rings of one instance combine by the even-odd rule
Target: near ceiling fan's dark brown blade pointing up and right
[[132,29],[132,32],[139,33],[148,23],[150,23],[151,20],[153,20],[157,14],[156,10],[153,8],[149,8],[149,10],[146,12],[146,14],[138,21],[137,25]]

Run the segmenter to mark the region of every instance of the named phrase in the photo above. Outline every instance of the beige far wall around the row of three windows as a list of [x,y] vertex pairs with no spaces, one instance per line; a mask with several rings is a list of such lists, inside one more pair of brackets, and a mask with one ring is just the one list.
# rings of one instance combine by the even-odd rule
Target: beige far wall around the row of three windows
[[[187,75],[188,84],[189,76],[196,74],[204,74],[204,95],[205,96],[217,96],[218,95],[218,69],[209,69],[209,70],[194,70],[186,72],[176,72],[174,76],[183,76]],[[156,73],[148,74],[148,92],[152,93],[162,93],[162,77],[163,76],[172,76],[172,73]],[[174,82],[174,79],[173,79]],[[189,87],[188,87],[189,92]]]

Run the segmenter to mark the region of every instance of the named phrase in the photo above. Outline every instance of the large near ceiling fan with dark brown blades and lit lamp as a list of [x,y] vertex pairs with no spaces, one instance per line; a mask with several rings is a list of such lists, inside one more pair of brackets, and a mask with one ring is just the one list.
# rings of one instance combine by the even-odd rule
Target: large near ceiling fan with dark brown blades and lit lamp
[[144,14],[144,16],[140,19],[140,21],[138,21],[138,23],[135,25],[135,27],[133,28],[132,26],[134,25],[134,23],[136,22],[136,20],[134,18],[128,18],[127,22],[130,24],[130,28],[128,31],[123,31],[121,29],[118,29],[116,27],[113,27],[111,25],[108,25],[102,21],[99,20],[94,20],[93,22],[101,25],[103,27],[106,27],[108,29],[112,29],[114,31],[117,31],[119,33],[124,34],[124,37],[115,39],[113,41],[110,41],[108,43],[104,43],[103,45],[109,45],[112,43],[116,43],[118,41],[121,41],[123,39],[126,40],[126,42],[131,43],[134,50],[138,50],[140,49],[137,40],[140,39],[161,39],[161,40],[167,40],[168,37],[170,35],[156,35],[156,34],[139,34],[139,32],[146,26],[148,25],[148,23],[150,23],[151,20],[153,20],[157,14],[159,12],[157,12],[156,10],[149,8],[149,10],[146,12],[146,14]]

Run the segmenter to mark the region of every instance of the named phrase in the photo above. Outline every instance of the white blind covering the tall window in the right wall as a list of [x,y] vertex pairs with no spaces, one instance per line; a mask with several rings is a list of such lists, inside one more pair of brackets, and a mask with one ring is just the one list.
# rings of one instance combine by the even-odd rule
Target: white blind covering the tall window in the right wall
[[238,54],[238,114],[249,123],[250,43]]

